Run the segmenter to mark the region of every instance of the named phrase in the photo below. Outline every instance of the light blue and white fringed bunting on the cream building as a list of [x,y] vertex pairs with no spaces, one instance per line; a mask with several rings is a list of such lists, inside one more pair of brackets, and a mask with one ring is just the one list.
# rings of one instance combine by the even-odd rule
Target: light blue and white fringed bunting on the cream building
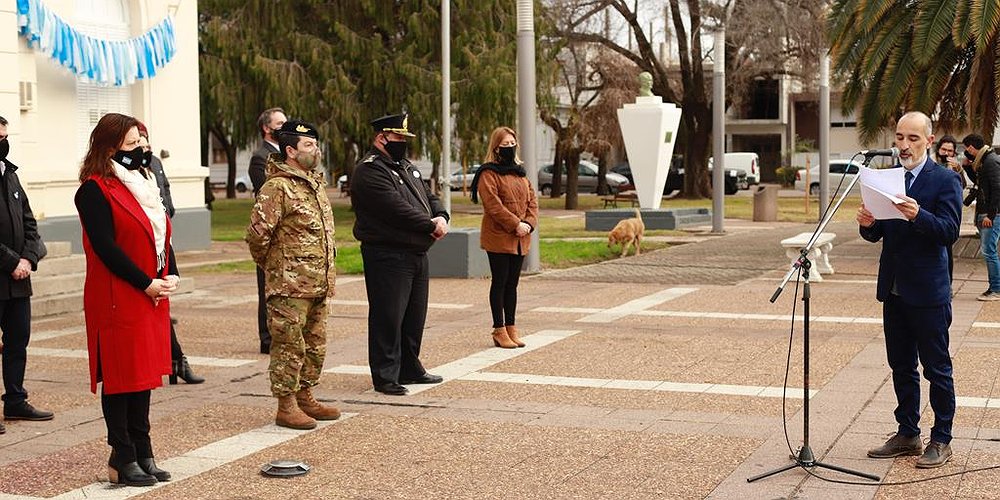
[[152,78],[177,52],[173,18],[167,16],[128,40],[85,35],[49,10],[42,0],[17,0],[17,25],[31,47],[76,75],[104,85],[123,86]]

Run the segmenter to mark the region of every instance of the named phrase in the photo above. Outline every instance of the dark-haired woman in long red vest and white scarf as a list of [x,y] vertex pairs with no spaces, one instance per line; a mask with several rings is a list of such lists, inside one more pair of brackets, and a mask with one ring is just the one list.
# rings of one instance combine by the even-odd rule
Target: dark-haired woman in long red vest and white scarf
[[90,134],[76,208],[83,225],[87,278],[83,311],[90,390],[101,382],[112,483],[170,480],[149,439],[150,390],[171,373],[170,304],[177,265],[170,219],[156,180],[142,167],[138,121],[108,113]]

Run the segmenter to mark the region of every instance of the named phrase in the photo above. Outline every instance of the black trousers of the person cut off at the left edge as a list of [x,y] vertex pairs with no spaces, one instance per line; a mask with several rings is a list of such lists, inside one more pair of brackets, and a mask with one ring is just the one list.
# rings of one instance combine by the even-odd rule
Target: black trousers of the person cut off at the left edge
[[31,338],[31,299],[0,300],[0,331],[3,332],[3,403],[17,405],[28,399],[24,389],[24,367]]

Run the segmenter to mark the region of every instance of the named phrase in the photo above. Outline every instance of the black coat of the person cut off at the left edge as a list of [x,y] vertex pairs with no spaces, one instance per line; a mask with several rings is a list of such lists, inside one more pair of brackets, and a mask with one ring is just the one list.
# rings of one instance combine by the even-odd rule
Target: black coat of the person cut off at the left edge
[[31,278],[15,280],[10,274],[22,258],[31,262],[32,271],[37,270],[47,252],[28,195],[17,178],[17,166],[5,163],[0,177],[0,300],[31,296]]

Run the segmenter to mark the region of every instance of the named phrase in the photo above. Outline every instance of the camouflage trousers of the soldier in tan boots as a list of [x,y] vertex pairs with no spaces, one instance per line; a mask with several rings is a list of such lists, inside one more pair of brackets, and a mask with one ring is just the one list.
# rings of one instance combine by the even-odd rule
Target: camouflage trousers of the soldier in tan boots
[[271,394],[295,394],[319,384],[326,358],[326,297],[271,296],[267,327],[271,331]]

